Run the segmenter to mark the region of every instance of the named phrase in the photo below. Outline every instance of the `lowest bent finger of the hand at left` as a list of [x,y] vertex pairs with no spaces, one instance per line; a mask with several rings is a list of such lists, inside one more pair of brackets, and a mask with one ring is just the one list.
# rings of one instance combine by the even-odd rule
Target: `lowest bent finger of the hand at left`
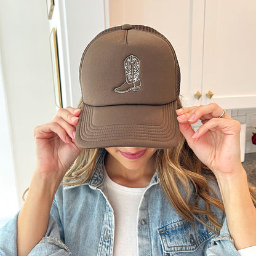
[[34,139],[37,140],[39,138],[52,138],[57,134],[58,137],[64,143],[70,143],[71,138],[66,133],[65,129],[63,129],[57,122],[49,122],[48,124],[43,124],[42,126],[37,126],[34,129]]

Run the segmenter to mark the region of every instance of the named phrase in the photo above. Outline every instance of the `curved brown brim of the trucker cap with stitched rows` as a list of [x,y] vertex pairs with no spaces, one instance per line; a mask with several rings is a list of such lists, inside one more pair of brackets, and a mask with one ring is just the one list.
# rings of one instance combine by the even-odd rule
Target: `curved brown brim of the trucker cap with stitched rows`
[[138,146],[172,148],[178,144],[177,102],[166,105],[89,106],[76,127],[81,148]]

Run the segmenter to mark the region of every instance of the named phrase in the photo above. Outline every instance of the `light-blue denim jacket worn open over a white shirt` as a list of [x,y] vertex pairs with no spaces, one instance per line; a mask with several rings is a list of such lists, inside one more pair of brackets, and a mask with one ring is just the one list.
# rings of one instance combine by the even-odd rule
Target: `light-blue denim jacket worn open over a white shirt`
[[[103,182],[105,154],[105,150],[99,150],[94,174],[87,183],[59,186],[46,235],[31,250],[30,256],[113,255],[114,212],[106,198]],[[212,186],[220,195],[218,186]],[[203,200],[199,206],[204,207]],[[224,212],[214,206],[211,210],[223,223],[219,235],[198,220],[194,220],[192,226],[180,216],[162,192],[154,174],[138,209],[138,256],[238,256]],[[0,255],[17,255],[17,216],[18,213],[0,229]]]

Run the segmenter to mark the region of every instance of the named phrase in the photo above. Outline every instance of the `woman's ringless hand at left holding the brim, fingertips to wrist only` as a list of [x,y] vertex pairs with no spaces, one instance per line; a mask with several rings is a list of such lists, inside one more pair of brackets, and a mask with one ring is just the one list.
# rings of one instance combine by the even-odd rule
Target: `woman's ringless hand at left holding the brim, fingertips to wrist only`
[[36,172],[54,174],[59,182],[82,151],[74,136],[81,110],[60,108],[48,124],[34,129]]

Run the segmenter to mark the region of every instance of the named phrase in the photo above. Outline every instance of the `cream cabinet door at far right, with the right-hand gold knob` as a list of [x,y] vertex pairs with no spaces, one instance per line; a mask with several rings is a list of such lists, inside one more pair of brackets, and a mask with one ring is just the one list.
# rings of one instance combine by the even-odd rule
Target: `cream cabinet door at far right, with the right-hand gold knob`
[[256,1],[206,0],[205,10],[202,104],[255,107]]

